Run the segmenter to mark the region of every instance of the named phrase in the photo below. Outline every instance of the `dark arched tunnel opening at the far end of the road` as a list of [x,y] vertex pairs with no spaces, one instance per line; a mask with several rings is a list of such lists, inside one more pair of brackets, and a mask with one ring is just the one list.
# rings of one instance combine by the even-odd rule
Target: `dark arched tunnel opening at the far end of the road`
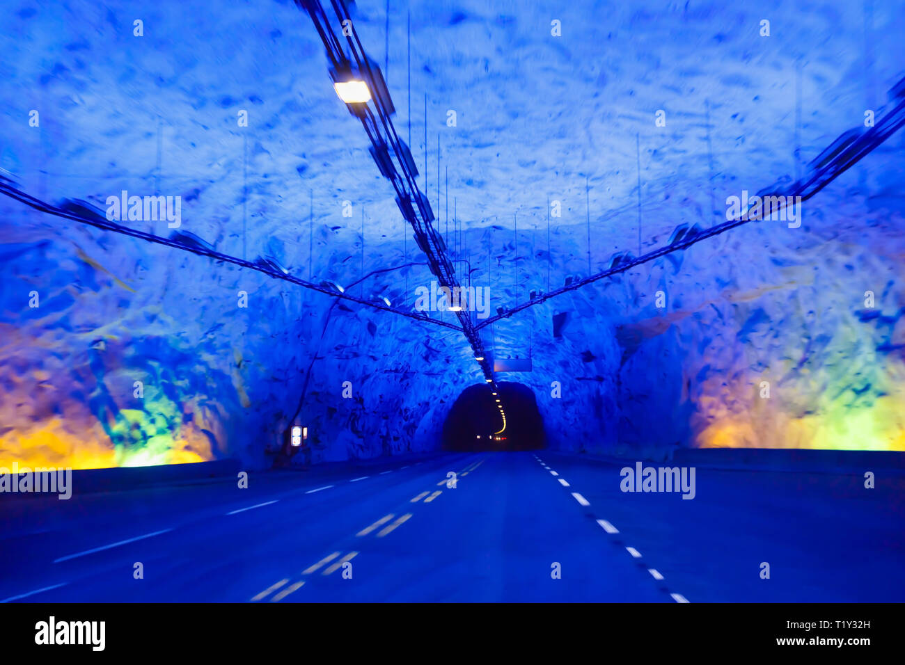
[[546,444],[538,400],[521,384],[471,385],[443,422],[448,451],[533,451]]

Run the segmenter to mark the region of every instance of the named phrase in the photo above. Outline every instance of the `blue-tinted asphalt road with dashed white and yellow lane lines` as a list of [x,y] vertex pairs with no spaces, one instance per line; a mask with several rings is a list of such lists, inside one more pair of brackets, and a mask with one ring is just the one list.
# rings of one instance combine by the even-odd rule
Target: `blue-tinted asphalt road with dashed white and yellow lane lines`
[[619,470],[484,452],[7,495],[0,601],[905,601],[901,477],[699,468],[688,500]]

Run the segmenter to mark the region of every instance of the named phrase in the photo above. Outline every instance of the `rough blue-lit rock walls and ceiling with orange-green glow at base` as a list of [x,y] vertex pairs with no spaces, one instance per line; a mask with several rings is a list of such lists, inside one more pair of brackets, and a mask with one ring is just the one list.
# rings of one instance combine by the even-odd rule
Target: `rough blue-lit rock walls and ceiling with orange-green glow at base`
[[[24,189],[100,208],[122,190],[181,195],[182,230],[314,281],[348,286],[421,260],[295,5],[108,5],[23,3],[7,16],[0,166]],[[588,233],[597,271],[638,251],[639,215],[646,251],[679,223],[725,219],[727,196],[795,179],[885,102],[905,69],[903,10],[413,2],[411,118],[405,7],[390,3],[388,37],[381,3],[360,3],[356,26],[382,67],[386,38],[419,185],[495,309],[585,275]],[[27,124],[32,109],[40,128]],[[588,432],[588,448],[903,449],[903,145],[892,138],[815,197],[800,229],[761,223],[700,243],[504,319],[485,343],[498,357],[532,356],[533,371],[510,378],[538,392],[557,431]],[[548,200],[562,211],[549,252]],[[481,381],[454,331],[8,200],[0,214],[16,278],[0,319],[14,377],[5,444],[23,460],[262,463],[300,395],[319,459],[375,454],[369,437],[385,429],[395,451],[430,447],[455,396]],[[349,288],[410,307],[431,280],[414,266]],[[31,290],[46,304],[24,312]],[[240,290],[248,309],[237,309]],[[862,311],[867,290],[877,316]],[[140,404],[135,380],[149,386]],[[770,402],[755,400],[763,381]],[[858,423],[857,441],[843,421]]]

